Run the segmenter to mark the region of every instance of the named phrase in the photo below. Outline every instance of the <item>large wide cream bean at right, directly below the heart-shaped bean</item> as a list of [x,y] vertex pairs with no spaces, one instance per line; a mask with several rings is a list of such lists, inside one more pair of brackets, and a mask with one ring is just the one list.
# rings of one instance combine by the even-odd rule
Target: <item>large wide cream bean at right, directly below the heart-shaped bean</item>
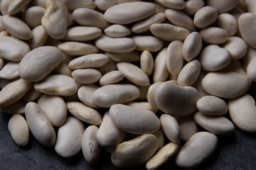
[[202,86],[208,94],[234,98],[245,93],[249,82],[245,76],[236,72],[210,72],[203,78]]

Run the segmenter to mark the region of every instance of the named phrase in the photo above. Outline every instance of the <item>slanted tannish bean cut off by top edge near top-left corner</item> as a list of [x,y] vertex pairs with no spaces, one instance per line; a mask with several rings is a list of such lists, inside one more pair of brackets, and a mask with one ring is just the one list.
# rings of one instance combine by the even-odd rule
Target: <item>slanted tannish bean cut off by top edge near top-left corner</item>
[[14,15],[20,12],[31,0],[12,0],[8,7],[8,15]]

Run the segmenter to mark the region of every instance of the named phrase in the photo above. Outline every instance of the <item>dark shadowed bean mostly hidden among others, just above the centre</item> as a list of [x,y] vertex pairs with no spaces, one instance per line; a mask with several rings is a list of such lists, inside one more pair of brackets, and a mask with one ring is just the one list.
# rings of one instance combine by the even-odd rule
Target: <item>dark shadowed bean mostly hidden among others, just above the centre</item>
[[139,62],[140,60],[140,55],[136,51],[124,53],[105,52],[105,55],[110,57],[114,62]]

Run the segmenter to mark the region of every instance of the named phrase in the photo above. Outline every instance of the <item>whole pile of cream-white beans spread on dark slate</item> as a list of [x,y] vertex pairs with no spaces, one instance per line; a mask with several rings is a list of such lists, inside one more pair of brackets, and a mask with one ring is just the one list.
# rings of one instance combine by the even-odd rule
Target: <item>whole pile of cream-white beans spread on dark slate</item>
[[0,9],[0,107],[21,147],[31,132],[61,157],[82,149],[90,165],[109,152],[124,169],[170,160],[198,169],[217,136],[235,125],[256,132],[246,94],[255,0],[1,0]]

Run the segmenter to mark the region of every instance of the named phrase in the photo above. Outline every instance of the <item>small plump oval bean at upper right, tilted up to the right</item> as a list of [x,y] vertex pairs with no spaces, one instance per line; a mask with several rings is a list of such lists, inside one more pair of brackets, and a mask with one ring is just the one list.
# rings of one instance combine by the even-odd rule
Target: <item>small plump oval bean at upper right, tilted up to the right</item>
[[217,10],[211,6],[204,6],[199,9],[193,18],[193,23],[197,28],[206,28],[212,25],[218,17]]

